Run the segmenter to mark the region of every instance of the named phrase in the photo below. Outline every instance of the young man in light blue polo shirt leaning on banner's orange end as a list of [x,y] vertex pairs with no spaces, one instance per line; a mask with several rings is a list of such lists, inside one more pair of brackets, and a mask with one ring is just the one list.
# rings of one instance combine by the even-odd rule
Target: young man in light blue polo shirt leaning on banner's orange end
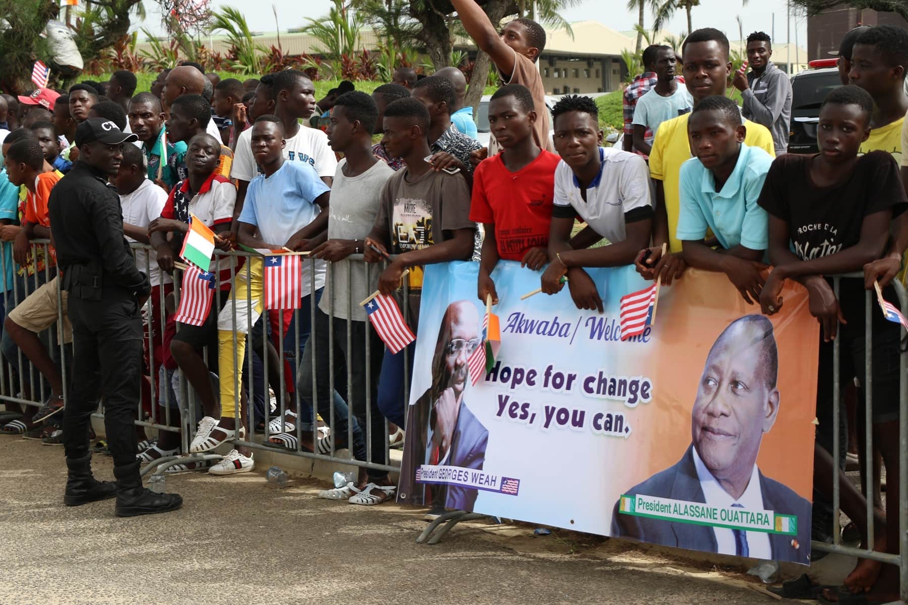
[[[681,166],[676,238],[688,265],[725,273],[747,304],[759,304],[768,218],[757,200],[773,158],[745,145],[745,134],[740,110],[725,96],[706,97],[691,113],[694,157]],[[707,229],[715,240],[705,239]]]

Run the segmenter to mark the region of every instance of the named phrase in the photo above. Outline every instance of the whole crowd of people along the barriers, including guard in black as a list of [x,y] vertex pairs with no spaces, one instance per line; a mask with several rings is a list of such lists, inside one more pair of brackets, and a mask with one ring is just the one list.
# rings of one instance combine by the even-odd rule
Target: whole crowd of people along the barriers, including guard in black
[[[363,308],[348,301],[375,288],[400,297],[406,279],[415,333],[427,264],[478,261],[477,296],[497,303],[493,269],[499,259],[518,261],[544,269],[544,293],[567,287],[578,308],[599,312],[602,299],[585,268],[634,264],[666,286],[683,279],[688,267],[722,272],[766,315],[782,309],[779,293],[792,279],[807,289],[821,325],[814,539],[827,539],[834,434],[853,428],[845,423],[848,414],[833,424],[832,343],[837,338],[843,346],[838,376],[860,409],[860,368],[868,353],[864,289],[879,284],[897,306],[891,282],[902,278],[908,248],[902,155],[908,32],[880,25],[845,35],[838,60],[843,86],[824,99],[819,153],[810,156],[786,153],[791,84],[771,62],[768,35],[748,36],[748,73],[733,72],[728,40],[713,28],[689,34],[680,57],[667,46],[650,46],[646,73],[625,92],[618,149],[603,146],[591,99],[565,96],[549,114],[535,64],[546,41],[539,24],[521,18],[498,32],[473,0],[452,3],[503,82],[489,102],[489,148],[476,139],[464,106],[467,83],[454,68],[427,77],[401,68],[371,94],[344,82],[319,101],[310,78],[295,70],[240,82],[186,62],[164,70],[148,92],[135,90],[133,73],[116,72],[107,83],[0,98],[2,350],[20,376],[22,398],[36,396],[25,361],[49,386],[36,411],[7,401],[0,432],[65,445],[67,503],[115,495],[118,514],[162,512],[182,500],[143,491],[138,468],[180,454],[181,443],[176,432],[148,441],[133,428],[139,375],[146,383],[154,376],[161,386],[155,394],[146,386],[147,408],[174,405],[175,392],[164,392],[177,373],[192,385],[202,419],[191,453],[245,437],[250,408],[267,405],[253,395],[257,378],[283,395],[284,414],[269,427],[271,446],[320,454],[349,447],[357,460],[384,462],[389,438],[400,439],[404,424],[405,356],[412,348],[390,354]],[[730,85],[741,91],[743,107],[726,96]],[[191,216],[217,234],[223,251],[242,244],[318,259],[302,273],[301,306],[314,302],[317,310],[312,323],[308,311],[299,314],[300,350],[284,359],[277,353],[297,319],[291,310],[263,308],[262,258],[216,254],[207,268],[217,290],[207,318],[199,326],[174,321],[179,274],[173,271]],[[575,233],[577,221],[584,227]],[[150,248],[133,261],[123,235]],[[35,239],[51,244],[33,245]],[[601,240],[608,245],[596,246]],[[350,255],[362,255],[365,264]],[[54,266],[62,277],[48,280],[45,269]],[[844,279],[837,295],[824,277],[854,271],[863,271],[864,281]],[[140,307],[146,324],[160,329],[135,331]],[[41,335],[58,317],[48,341]],[[842,475],[839,489],[854,532],[864,539],[873,533],[878,550],[897,552],[901,335],[875,312],[872,329],[874,451],[865,452],[856,437],[840,443],[861,457],[881,457],[887,503],[880,503],[879,477],[865,477],[862,492]],[[61,360],[54,356],[68,350],[74,333],[74,386],[64,401]],[[360,345],[367,333],[368,351]],[[244,371],[250,336],[255,357],[269,360],[267,376]],[[333,358],[325,346],[330,337]],[[142,347],[130,353],[139,338],[144,359]],[[446,351],[465,366],[476,346],[452,341]],[[291,365],[297,354],[299,363]],[[347,368],[351,384],[331,392]],[[290,379],[281,384],[281,374]],[[117,487],[96,482],[89,466],[87,420],[102,390]],[[291,405],[294,394],[300,407]],[[330,433],[318,439],[313,408],[331,419]],[[179,425],[175,409],[157,417],[165,416]],[[860,428],[851,434],[863,435],[864,413],[850,416]],[[212,474],[242,473],[252,470],[253,454],[238,444],[219,462],[176,470],[203,466]],[[372,505],[394,491],[388,473],[362,467],[356,481],[320,495]],[[873,527],[864,513],[867,499],[877,504]],[[897,595],[893,569],[860,561],[845,585]]]

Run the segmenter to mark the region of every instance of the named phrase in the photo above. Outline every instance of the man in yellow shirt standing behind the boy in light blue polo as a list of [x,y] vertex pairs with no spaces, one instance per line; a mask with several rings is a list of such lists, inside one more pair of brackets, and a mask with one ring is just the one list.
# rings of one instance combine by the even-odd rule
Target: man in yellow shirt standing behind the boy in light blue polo
[[[698,29],[688,35],[682,47],[684,77],[687,91],[694,99],[694,107],[708,96],[725,94],[732,63],[728,59],[728,38],[712,27]],[[681,256],[681,241],[675,231],[680,210],[678,183],[681,164],[693,156],[687,140],[689,113],[662,122],[653,140],[649,154],[649,175],[656,190],[656,216],[653,220],[653,248],[641,250],[637,256],[637,270],[646,278],[662,276],[668,285],[685,269]],[[773,135],[765,126],[744,121],[745,144],[760,147],[775,157]],[[668,244],[668,253],[661,259],[662,245]]]

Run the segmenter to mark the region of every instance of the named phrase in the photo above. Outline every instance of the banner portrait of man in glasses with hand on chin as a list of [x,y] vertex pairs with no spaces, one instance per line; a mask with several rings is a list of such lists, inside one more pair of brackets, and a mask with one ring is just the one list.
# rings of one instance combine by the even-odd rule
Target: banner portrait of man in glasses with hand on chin
[[[464,392],[469,384],[467,359],[482,345],[479,311],[469,300],[457,300],[445,310],[432,356],[429,389],[410,406],[405,458],[413,461],[410,473],[401,473],[400,500],[452,510],[472,510],[478,491],[459,485],[416,484],[419,464],[458,466],[481,470],[486,460],[489,431],[469,411]],[[410,432],[413,432],[411,434]],[[415,489],[414,489],[415,488]]]

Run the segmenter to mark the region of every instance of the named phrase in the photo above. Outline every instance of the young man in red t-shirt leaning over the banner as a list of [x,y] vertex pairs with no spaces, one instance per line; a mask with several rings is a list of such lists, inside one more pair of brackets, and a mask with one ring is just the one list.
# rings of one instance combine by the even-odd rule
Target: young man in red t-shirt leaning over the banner
[[[543,109],[543,111],[545,111]],[[504,150],[479,163],[473,175],[469,220],[486,231],[479,261],[479,300],[498,304],[491,273],[498,259],[534,271],[548,262],[548,229],[560,158],[533,138],[537,114],[526,86],[508,84],[489,101],[489,127]]]

